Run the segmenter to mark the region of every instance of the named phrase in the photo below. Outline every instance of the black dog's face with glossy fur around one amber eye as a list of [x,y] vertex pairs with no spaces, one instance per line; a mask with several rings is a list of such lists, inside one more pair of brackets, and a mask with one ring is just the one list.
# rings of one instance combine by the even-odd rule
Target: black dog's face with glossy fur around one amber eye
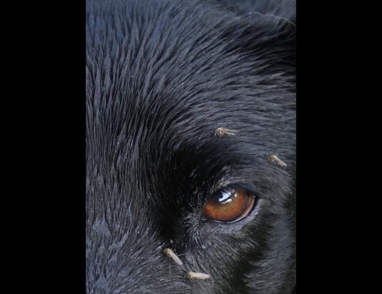
[[86,5],[87,293],[290,293],[295,26],[209,2]]

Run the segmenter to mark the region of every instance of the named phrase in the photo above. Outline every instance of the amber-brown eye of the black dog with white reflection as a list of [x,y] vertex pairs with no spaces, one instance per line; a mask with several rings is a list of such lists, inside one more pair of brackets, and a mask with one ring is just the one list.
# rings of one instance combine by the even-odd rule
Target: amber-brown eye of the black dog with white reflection
[[204,206],[203,218],[232,223],[245,218],[255,203],[255,196],[244,190],[223,189],[212,196]]

